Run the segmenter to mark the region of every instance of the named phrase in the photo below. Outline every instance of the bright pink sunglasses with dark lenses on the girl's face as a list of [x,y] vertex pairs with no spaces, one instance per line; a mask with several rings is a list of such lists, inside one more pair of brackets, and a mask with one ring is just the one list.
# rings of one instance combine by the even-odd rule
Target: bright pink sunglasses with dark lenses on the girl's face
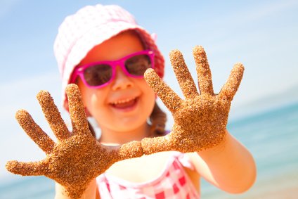
[[145,70],[154,68],[153,51],[138,51],[119,60],[98,61],[74,69],[70,83],[74,83],[77,77],[81,77],[86,86],[98,89],[112,82],[116,76],[116,66],[122,68],[124,74],[129,77],[142,78]]

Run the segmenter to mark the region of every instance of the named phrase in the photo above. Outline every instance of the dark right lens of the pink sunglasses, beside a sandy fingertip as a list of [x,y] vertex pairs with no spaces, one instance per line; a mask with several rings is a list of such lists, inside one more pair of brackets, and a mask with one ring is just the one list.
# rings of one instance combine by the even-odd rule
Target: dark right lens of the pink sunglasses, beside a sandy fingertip
[[125,68],[130,75],[143,76],[148,68],[152,68],[151,60],[148,55],[138,55],[125,61]]

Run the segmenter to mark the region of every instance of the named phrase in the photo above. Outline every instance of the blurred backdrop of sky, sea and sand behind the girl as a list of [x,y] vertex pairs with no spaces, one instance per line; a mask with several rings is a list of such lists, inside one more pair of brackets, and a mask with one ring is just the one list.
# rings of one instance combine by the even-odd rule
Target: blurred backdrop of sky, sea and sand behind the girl
[[[8,160],[45,157],[14,115],[20,108],[28,110],[55,140],[35,96],[41,89],[50,91],[63,117],[69,120],[61,108],[53,41],[67,15],[98,3],[124,7],[140,25],[157,34],[166,60],[164,80],[179,95],[169,63],[172,49],[182,51],[196,81],[192,49],[204,46],[216,92],[234,63],[245,65],[228,130],[254,155],[257,181],[246,193],[231,195],[202,180],[202,198],[297,198],[298,1],[292,0],[1,0],[0,198],[53,198],[51,179],[16,176],[5,169]],[[169,114],[168,129],[171,124]]]

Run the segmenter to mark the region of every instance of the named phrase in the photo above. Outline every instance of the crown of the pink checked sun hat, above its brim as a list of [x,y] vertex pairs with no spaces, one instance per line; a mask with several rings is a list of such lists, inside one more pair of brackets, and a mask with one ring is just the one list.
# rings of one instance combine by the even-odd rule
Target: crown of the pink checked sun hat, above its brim
[[120,21],[136,25],[134,16],[117,5],[85,6],[77,13],[67,16],[58,28],[54,42],[54,53],[60,74],[63,75],[67,54],[70,53],[72,46],[80,37],[95,27]]

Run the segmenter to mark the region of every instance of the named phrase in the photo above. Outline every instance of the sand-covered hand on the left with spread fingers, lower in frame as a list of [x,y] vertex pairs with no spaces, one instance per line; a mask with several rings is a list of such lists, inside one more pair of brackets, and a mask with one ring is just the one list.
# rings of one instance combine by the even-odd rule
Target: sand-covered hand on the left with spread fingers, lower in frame
[[79,198],[90,181],[105,172],[113,163],[139,157],[143,155],[143,151],[138,141],[119,147],[98,143],[89,130],[77,85],[68,85],[66,93],[72,132],[67,129],[51,95],[47,91],[40,91],[37,98],[58,141],[55,143],[27,111],[19,110],[15,115],[16,119],[28,136],[44,150],[46,158],[38,162],[9,161],[6,169],[24,176],[47,176],[64,186],[71,198]]

